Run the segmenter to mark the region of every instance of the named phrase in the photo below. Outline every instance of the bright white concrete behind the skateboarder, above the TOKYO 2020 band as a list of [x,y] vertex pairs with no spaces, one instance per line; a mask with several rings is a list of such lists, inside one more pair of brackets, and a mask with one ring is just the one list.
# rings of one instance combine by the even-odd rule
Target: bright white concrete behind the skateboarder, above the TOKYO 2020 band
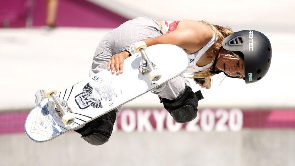
[[[34,106],[34,94],[44,87],[62,90],[88,77],[100,39],[110,29],[57,28],[0,30],[0,109]],[[213,76],[212,88],[202,90],[199,108],[294,108],[295,88],[292,52],[294,33],[266,34],[273,56],[267,75],[257,83]],[[201,89],[192,79],[193,90]],[[146,102],[149,101],[149,102]],[[126,107],[163,107],[147,93]]]

